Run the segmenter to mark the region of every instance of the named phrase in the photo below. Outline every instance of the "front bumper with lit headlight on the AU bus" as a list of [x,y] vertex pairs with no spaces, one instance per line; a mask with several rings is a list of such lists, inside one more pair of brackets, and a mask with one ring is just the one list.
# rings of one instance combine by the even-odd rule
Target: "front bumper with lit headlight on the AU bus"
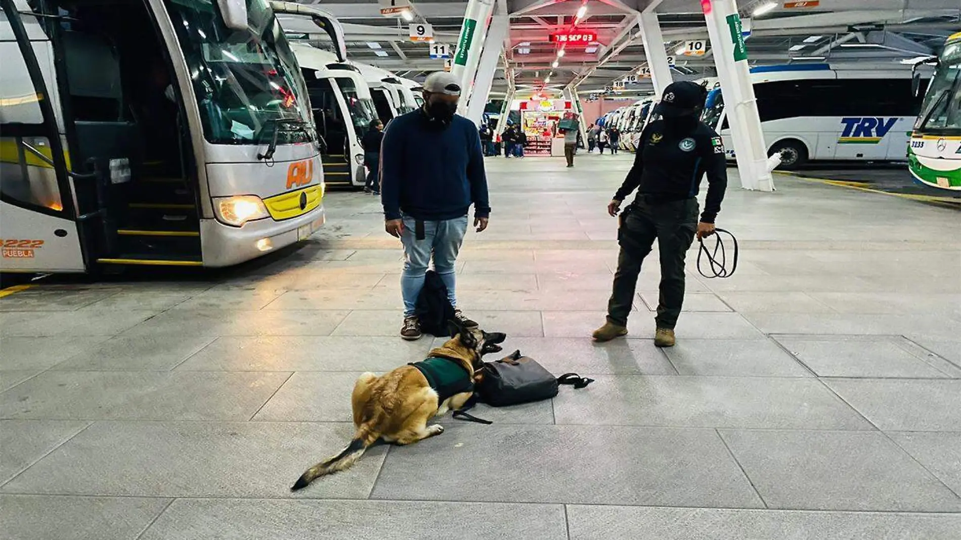
[[306,240],[327,220],[324,205],[304,215],[274,221],[259,219],[243,227],[230,227],[216,219],[200,220],[204,266],[233,266]]

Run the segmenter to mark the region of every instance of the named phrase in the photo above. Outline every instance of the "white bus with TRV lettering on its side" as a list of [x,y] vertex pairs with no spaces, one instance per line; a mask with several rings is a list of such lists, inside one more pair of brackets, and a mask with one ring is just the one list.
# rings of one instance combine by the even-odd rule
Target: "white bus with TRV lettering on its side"
[[[911,73],[835,70],[825,63],[758,66],[751,70],[768,154],[781,167],[809,160],[905,160],[921,99],[910,97]],[[734,145],[721,88],[711,89],[704,122]]]

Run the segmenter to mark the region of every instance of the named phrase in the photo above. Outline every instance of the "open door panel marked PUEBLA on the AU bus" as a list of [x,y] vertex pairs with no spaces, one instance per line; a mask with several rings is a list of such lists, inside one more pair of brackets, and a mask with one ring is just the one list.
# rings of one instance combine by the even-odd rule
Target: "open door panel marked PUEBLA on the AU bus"
[[[53,50],[26,2],[0,0],[0,270],[83,272],[54,103]],[[76,182],[84,182],[78,179]]]

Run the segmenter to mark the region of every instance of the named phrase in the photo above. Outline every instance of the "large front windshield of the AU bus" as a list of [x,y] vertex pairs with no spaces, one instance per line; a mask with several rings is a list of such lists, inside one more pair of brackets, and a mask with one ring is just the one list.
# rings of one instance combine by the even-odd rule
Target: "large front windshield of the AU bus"
[[[166,0],[212,144],[258,144],[277,120],[310,125],[307,91],[283,30],[266,0],[246,0],[247,30],[224,25],[212,0]],[[264,130],[264,128],[267,130]],[[308,142],[313,130],[284,130]]]

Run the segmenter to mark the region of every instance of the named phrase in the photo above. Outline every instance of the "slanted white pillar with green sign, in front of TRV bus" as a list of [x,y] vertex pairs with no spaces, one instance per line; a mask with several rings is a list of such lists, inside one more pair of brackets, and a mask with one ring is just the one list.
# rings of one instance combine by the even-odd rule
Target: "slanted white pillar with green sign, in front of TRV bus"
[[767,147],[757,114],[748,53],[741,37],[740,17],[734,0],[710,0],[703,4],[707,35],[724,92],[725,109],[737,159],[741,186],[774,191]]

